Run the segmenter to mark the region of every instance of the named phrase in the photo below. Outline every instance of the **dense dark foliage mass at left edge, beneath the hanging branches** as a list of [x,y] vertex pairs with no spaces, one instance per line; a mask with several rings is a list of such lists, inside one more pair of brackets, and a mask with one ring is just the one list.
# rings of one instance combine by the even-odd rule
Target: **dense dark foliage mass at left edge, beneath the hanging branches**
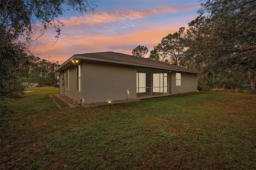
[[35,58],[28,55],[23,43],[8,40],[0,30],[0,98],[19,96],[25,87],[21,77],[28,76]]

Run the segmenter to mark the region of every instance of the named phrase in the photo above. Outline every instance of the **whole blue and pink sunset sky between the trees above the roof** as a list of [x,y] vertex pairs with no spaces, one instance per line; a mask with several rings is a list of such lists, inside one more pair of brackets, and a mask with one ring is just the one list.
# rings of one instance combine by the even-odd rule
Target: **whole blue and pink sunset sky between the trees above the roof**
[[148,57],[162,38],[180,27],[188,27],[188,22],[198,16],[200,3],[197,0],[99,0],[94,12],[80,16],[71,10],[59,16],[58,20],[65,26],[61,27],[58,41],[54,38],[56,32],[48,30],[31,49],[37,43],[36,56],[60,64],[80,53],[113,51],[132,55],[138,45],[148,47]]

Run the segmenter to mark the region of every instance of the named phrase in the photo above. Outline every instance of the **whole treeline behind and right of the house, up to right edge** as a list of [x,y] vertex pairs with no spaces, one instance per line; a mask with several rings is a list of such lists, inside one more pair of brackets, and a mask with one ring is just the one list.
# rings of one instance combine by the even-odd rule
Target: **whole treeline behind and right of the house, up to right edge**
[[200,71],[199,90],[255,92],[256,1],[208,0],[198,14],[187,30],[164,37],[150,58]]

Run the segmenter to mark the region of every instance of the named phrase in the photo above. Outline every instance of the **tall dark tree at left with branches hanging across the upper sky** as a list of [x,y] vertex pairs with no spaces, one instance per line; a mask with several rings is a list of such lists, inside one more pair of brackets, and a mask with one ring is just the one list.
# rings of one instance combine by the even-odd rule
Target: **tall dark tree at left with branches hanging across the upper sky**
[[[30,43],[48,29],[60,36],[64,26],[58,16],[64,9],[81,14],[94,11],[94,1],[88,0],[1,0],[0,2],[0,97],[7,97],[14,89],[22,87],[21,77],[36,60],[29,50]],[[32,36],[39,34],[32,39]],[[23,88],[24,89],[24,88]],[[22,90],[22,89],[21,89]]]

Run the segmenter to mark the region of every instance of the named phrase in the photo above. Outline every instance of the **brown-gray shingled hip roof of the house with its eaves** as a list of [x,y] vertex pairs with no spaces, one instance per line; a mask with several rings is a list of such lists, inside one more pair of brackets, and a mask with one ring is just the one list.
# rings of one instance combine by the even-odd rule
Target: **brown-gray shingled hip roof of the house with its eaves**
[[[75,54],[66,62],[64,62],[60,67],[58,67],[54,72],[60,72],[67,67],[72,65],[72,60],[74,59],[85,59],[91,61],[102,61],[108,63],[116,63],[116,64],[124,64],[124,65],[132,65],[138,67],[147,67],[147,68],[155,68],[155,69],[164,69],[164,70],[172,70],[172,71],[182,71],[189,73],[199,73],[198,71],[186,69],[184,67],[179,67],[176,65],[163,63],[161,61],[142,58],[133,55],[123,54],[123,53],[115,53],[115,52],[99,52],[99,53],[85,53],[85,54]],[[65,67],[66,66],[66,67]]]

